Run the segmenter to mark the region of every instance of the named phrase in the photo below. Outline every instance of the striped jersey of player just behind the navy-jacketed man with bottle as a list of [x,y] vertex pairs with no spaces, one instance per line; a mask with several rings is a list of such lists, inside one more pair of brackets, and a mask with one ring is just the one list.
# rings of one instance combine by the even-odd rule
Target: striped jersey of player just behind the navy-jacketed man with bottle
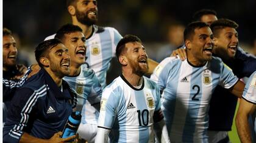
[[[101,102],[101,84],[99,84],[99,80],[94,71],[86,67],[81,67],[81,71],[78,76],[65,76],[63,79],[68,82],[69,86],[77,93],[77,108],[78,110],[82,108],[81,123],[97,124],[99,111],[94,107],[92,107],[94,110],[86,111],[88,105],[91,106],[91,104]],[[88,105],[86,105],[86,103]],[[90,112],[90,114],[87,112]]]

